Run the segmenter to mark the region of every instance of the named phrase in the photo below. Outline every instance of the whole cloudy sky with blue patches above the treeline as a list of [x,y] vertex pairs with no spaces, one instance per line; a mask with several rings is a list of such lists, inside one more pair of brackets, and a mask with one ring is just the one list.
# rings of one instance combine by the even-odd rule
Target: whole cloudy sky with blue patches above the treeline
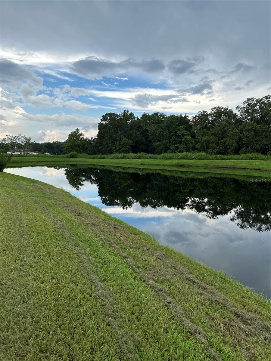
[[0,138],[270,93],[270,1],[1,1]]

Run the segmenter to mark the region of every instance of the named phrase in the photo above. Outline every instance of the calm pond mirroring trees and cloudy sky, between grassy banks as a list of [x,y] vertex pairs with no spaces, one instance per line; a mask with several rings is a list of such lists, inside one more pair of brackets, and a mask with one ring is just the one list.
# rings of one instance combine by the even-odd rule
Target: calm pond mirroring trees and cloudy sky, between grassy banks
[[270,183],[89,165],[5,171],[61,187],[270,298]]

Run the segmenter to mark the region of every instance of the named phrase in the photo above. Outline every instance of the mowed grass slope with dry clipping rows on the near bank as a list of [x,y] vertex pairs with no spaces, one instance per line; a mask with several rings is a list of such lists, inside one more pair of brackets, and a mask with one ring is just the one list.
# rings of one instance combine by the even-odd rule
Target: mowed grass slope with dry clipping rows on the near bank
[[0,173],[0,360],[269,360],[261,295],[68,192]]

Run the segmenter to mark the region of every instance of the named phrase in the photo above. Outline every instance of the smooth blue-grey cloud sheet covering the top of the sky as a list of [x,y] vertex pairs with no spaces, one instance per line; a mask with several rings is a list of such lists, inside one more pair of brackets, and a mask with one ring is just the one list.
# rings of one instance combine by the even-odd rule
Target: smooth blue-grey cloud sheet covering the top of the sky
[[219,54],[215,69],[270,64],[270,2],[1,1],[1,43],[167,62]]

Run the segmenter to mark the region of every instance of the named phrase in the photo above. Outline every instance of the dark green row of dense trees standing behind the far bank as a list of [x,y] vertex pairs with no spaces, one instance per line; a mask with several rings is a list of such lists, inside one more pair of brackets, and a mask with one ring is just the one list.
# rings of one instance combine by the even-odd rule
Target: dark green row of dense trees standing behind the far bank
[[134,116],[129,110],[106,113],[98,134],[85,138],[77,128],[65,142],[32,143],[32,151],[50,154],[70,152],[91,155],[112,153],[206,152],[235,155],[270,154],[270,95],[248,98],[236,107],[215,106],[193,117],[155,112]]

